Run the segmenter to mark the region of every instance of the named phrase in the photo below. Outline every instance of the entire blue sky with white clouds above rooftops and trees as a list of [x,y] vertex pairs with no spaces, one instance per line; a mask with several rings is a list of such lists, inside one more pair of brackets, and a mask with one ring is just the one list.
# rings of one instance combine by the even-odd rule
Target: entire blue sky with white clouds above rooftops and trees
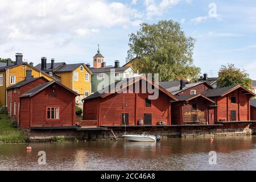
[[208,0],[0,0],[0,57],[93,63],[97,45],[107,65],[126,63],[129,34],[139,24],[173,19],[196,39],[193,60],[218,75],[235,64],[256,80],[256,1]]

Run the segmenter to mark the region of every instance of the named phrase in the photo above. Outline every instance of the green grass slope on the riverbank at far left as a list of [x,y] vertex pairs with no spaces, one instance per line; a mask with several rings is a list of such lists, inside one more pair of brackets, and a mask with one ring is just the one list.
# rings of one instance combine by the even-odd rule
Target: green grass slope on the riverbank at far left
[[0,141],[5,143],[26,142],[26,135],[13,119],[9,119],[6,110],[0,110]]

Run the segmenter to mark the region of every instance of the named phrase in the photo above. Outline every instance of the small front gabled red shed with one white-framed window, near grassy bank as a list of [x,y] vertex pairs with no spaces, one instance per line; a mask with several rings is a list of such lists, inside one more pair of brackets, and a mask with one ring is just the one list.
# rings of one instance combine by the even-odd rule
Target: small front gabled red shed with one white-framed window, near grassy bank
[[76,92],[56,81],[36,86],[20,96],[20,127],[75,126]]

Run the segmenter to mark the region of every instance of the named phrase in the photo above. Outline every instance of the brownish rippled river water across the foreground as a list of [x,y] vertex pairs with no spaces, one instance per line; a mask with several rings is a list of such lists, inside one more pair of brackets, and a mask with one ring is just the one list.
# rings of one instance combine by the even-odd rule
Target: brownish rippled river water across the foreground
[[[255,170],[256,137],[0,144],[0,170]],[[39,151],[46,164],[38,163]],[[216,152],[209,156],[210,151]],[[213,152],[214,154],[214,152]],[[209,164],[209,158],[210,160]],[[212,164],[215,162],[216,164]]]

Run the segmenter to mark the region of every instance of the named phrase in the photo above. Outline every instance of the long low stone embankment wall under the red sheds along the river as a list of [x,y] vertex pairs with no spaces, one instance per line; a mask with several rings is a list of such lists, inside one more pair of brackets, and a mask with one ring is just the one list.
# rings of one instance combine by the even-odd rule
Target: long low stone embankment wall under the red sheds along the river
[[[160,135],[163,138],[171,137],[217,137],[228,135],[251,135],[253,131],[250,123],[225,123],[221,125],[196,125],[196,126],[129,126],[108,127],[104,130],[82,130],[82,129],[52,129],[52,130],[32,130],[29,135],[31,141],[47,141],[52,137],[61,137],[77,140],[100,140],[100,139],[122,139],[125,131],[129,134],[142,134],[146,132],[150,135]],[[256,131],[256,130],[255,130]]]

